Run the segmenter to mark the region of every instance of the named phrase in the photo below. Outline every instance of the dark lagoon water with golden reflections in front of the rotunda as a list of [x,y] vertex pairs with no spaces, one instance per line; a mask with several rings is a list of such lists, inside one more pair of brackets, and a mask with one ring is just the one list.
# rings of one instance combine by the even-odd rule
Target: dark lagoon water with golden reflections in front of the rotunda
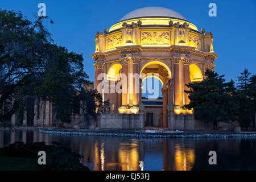
[[[256,170],[256,138],[150,139],[0,130],[0,147],[15,141],[61,142],[84,156],[91,170]],[[217,165],[209,165],[209,151]]]

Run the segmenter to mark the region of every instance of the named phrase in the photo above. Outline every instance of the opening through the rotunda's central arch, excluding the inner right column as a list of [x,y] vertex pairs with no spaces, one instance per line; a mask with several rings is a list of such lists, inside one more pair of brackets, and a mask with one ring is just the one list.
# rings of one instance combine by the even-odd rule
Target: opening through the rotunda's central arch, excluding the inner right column
[[166,82],[170,76],[170,69],[160,61],[150,61],[142,67],[142,103],[145,106],[145,127],[163,126],[162,89],[166,89]]

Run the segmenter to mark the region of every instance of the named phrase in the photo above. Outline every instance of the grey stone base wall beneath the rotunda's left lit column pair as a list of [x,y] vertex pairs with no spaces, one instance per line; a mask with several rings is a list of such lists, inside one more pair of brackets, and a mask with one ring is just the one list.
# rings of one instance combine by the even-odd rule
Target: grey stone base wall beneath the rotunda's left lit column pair
[[144,129],[143,114],[101,114],[99,117],[100,129]]

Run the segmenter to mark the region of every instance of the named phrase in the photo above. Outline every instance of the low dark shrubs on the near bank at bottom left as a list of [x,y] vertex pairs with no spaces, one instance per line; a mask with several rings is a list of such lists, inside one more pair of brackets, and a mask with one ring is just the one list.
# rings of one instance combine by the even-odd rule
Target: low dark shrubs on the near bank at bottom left
[[44,142],[31,144],[15,142],[0,148],[0,156],[39,158],[39,151],[46,152],[46,165],[36,164],[39,169],[47,171],[89,170],[80,163],[82,155],[72,152],[70,148],[63,147],[57,142],[52,142],[49,146]]

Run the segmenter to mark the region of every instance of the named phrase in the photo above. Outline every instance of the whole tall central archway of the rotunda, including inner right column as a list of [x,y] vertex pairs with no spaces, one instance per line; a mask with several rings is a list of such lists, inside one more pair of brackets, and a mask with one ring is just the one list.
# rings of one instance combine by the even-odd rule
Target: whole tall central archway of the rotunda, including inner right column
[[[141,79],[143,82],[150,79],[154,80],[154,82],[150,81],[151,86],[149,85],[149,88],[152,88],[150,91],[151,92],[153,91],[153,97],[142,98],[142,95],[141,95],[141,101],[145,106],[144,107],[145,108],[144,109],[144,126],[145,127],[167,127],[167,105],[168,105],[167,81],[169,77],[171,77],[170,68],[168,68],[168,66],[162,63],[161,61],[150,61],[144,64],[141,69]],[[159,97],[159,93],[161,92],[162,92],[162,97]]]

